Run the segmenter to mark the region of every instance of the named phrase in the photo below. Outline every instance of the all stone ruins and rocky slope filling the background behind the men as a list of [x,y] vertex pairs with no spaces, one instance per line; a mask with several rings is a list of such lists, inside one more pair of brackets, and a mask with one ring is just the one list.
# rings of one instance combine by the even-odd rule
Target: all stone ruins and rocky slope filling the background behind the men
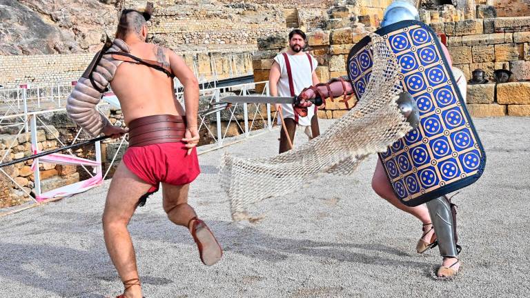
[[[346,74],[349,50],[380,26],[391,0],[175,0],[154,1],[149,39],[177,51],[204,81],[228,77],[239,67],[267,81],[272,58],[287,46],[287,34],[301,28],[308,35],[308,52],[319,62],[320,81]],[[411,1],[416,4],[415,1]],[[7,3],[7,4],[6,4]],[[72,81],[81,75],[106,32],[115,32],[122,8],[141,8],[134,0],[21,0],[0,4],[0,85],[17,88]],[[471,72],[484,70],[488,83],[469,84],[467,106],[473,117],[530,116],[530,0],[424,0],[420,20],[448,37],[453,64]],[[248,54],[252,59],[229,59],[226,54]],[[513,72],[508,83],[495,83],[494,70]],[[257,84],[262,92],[264,84]],[[349,106],[353,106],[353,99]],[[124,125],[121,110],[107,112],[112,123]],[[326,101],[321,118],[339,118],[346,105]],[[57,148],[75,137],[64,115],[49,119],[52,132],[37,128],[41,150]],[[61,118],[62,117],[62,118]],[[224,119],[224,118],[223,118]],[[240,121],[238,119],[238,121]],[[70,125],[70,126],[69,126]],[[215,129],[212,127],[212,129]],[[230,135],[240,133],[237,128]],[[30,154],[29,134],[15,137],[12,128],[1,128],[0,153],[4,161]],[[205,143],[208,141],[205,139]],[[104,143],[104,165],[114,156],[116,143]],[[92,149],[79,148],[83,157]],[[118,159],[120,159],[120,154]],[[31,161],[4,168],[27,192],[34,187]],[[52,189],[84,179],[84,170],[41,163],[43,188]],[[0,175],[0,208],[27,201],[28,197],[5,175]]]

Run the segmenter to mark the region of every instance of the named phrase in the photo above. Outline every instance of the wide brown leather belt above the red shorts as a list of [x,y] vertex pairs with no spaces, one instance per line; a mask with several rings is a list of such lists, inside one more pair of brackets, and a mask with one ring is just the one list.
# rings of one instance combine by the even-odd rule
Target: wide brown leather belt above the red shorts
[[153,115],[129,123],[129,147],[155,143],[179,142],[186,132],[186,118],[174,115]]

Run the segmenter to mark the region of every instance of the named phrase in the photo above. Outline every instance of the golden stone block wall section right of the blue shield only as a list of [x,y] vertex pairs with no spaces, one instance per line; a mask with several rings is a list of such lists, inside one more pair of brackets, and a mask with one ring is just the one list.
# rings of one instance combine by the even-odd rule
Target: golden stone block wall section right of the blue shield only
[[[506,66],[514,80],[530,81],[530,17],[498,17],[466,21],[431,23],[437,32],[447,34],[448,49],[453,65],[466,78],[482,69],[490,83],[495,81],[493,71]],[[471,115],[530,116],[528,82],[469,86],[468,108]],[[511,90],[505,92],[504,90]]]

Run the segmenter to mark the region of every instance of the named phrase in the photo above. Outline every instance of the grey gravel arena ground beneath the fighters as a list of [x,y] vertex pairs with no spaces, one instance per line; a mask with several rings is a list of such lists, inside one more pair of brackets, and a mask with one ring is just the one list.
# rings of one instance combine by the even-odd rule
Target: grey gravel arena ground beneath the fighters
[[[326,128],[333,121],[322,121]],[[130,224],[144,295],[153,297],[526,297],[530,290],[530,118],[477,119],[487,152],[482,178],[454,198],[460,275],[433,279],[438,249],[415,253],[421,223],[371,190],[376,157],[353,177],[322,177],[268,199],[259,224],[233,224],[217,166],[224,152],[274,155],[277,128],[199,156],[190,203],[224,247],[202,265],[161,193]],[[518,137],[519,136],[519,137]],[[306,141],[299,131],[295,143]],[[202,148],[204,150],[204,148]],[[0,297],[106,297],[122,288],[106,253],[103,187],[0,218]]]

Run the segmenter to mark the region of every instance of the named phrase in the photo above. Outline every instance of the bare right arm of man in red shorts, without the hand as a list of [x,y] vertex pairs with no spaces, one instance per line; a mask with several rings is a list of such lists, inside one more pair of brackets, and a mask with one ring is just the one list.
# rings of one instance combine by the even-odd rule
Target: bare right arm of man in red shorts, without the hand
[[199,82],[195,74],[186,66],[184,59],[168,50],[169,63],[175,77],[184,86],[184,106],[188,128],[197,128],[197,111],[199,110]]

